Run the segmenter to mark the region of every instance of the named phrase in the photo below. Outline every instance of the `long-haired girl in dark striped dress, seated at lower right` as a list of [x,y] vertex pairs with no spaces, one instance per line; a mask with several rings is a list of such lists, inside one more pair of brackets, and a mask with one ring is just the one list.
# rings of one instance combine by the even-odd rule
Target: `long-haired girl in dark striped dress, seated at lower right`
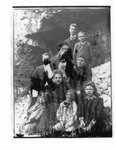
[[82,106],[82,130],[87,136],[95,136],[102,128],[103,99],[98,96],[95,84],[91,81],[85,84]]

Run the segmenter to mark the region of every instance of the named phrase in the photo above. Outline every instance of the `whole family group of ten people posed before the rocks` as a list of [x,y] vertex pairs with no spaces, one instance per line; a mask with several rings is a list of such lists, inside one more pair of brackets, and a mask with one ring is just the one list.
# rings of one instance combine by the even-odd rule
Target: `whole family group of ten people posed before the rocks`
[[75,23],[69,32],[70,37],[58,45],[58,54],[50,58],[44,53],[43,65],[31,76],[30,104],[20,128],[25,134],[97,136],[104,128],[103,99],[91,81],[91,44],[85,32],[77,34]]

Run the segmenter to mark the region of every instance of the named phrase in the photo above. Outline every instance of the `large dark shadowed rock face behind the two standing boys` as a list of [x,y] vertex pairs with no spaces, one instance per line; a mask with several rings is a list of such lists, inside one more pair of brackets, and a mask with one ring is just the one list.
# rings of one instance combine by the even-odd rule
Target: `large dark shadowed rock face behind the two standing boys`
[[41,29],[26,37],[35,40],[39,47],[57,53],[57,44],[69,37],[68,30],[71,23],[77,24],[78,31],[87,33],[87,40],[93,47],[93,66],[100,65],[110,58],[110,10],[108,7],[63,8],[51,17],[44,18]]

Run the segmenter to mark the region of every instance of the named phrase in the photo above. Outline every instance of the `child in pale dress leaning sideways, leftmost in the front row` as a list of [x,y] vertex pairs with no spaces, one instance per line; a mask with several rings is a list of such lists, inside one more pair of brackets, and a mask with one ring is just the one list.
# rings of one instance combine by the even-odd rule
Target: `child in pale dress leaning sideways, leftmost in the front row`
[[28,110],[29,117],[21,126],[25,130],[25,134],[34,135],[38,132],[44,134],[47,129],[47,112],[46,112],[46,95],[40,92],[37,102]]

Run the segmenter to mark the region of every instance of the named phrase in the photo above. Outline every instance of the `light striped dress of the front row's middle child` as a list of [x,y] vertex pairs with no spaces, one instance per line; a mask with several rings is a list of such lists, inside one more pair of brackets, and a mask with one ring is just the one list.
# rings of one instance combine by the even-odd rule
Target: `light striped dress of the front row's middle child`
[[72,101],[68,104],[69,106],[66,106],[65,103],[67,102],[62,102],[57,110],[57,119],[59,122],[54,126],[54,129],[74,131],[77,121],[77,104],[75,101]]

